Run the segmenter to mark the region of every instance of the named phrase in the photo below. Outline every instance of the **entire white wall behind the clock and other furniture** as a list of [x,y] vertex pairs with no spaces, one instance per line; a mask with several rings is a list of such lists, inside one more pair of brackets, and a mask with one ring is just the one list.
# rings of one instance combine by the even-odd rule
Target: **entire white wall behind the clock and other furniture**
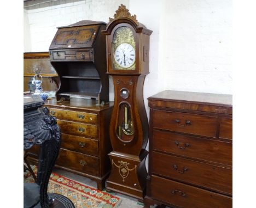
[[[58,26],[108,22],[121,3],[153,30],[147,112],[147,97],[164,89],[232,94],[231,0],[34,0],[30,4],[36,5],[24,8],[24,51],[48,51]],[[111,78],[109,90],[113,100]]]

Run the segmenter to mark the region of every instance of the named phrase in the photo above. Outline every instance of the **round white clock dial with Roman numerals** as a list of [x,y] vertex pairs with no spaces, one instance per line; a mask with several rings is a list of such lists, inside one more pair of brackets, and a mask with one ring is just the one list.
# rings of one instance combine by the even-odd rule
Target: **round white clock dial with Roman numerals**
[[115,50],[114,58],[121,68],[129,68],[135,63],[135,49],[131,44],[120,44]]

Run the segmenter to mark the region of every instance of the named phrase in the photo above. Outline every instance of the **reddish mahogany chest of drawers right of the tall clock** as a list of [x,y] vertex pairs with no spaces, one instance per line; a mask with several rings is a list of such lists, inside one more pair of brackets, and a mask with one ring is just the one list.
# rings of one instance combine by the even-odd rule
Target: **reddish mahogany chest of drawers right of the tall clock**
[[148,100],[145,207],[232,207],[232,95],[166,90]]

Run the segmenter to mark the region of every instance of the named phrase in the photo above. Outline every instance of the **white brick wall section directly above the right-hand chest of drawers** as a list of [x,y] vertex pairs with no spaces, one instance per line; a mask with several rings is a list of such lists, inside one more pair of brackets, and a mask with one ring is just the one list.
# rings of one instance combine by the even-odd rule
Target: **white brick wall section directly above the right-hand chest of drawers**
[[232,94],[232,1],[163,1],[159,78],[164,89]]

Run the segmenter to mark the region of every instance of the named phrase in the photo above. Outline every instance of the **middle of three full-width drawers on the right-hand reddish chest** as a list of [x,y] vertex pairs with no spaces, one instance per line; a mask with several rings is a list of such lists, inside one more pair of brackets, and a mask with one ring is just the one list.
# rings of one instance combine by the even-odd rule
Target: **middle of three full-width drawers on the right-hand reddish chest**
[[153,151],[152,173],[232,194],[232,169]]

